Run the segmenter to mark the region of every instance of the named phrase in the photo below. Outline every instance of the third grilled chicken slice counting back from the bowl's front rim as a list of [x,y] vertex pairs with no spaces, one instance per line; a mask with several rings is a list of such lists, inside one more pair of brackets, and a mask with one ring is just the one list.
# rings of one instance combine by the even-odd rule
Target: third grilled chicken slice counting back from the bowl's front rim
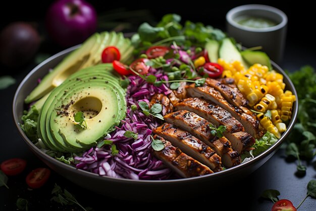
[[209,130],[209,121],[195,113],[181,110],[165,115],[164,119],[166,122],[174,124],[200,139],[220,156],[231,150],[230,142],[226,138],[217,139],[217,137],[213,136]]

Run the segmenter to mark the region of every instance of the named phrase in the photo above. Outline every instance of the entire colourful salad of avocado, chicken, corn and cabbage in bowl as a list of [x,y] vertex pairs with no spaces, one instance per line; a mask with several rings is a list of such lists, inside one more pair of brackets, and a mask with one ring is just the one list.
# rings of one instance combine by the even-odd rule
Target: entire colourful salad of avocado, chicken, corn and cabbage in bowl
[[295,94],[264,52],[175,14],[89,37],[25,98],[21,128],[60,162],[132,180],[248,162],[287,131]]

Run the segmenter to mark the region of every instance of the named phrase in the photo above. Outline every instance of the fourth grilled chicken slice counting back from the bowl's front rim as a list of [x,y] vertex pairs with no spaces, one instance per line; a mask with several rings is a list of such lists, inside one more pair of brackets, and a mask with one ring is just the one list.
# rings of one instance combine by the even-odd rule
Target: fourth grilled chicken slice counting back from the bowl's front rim
[[224,125],[229,133],[244,131],[242,124],[228,111],[203,99],[187,98],[175,104],[175,108],[194,112],[217,127]]

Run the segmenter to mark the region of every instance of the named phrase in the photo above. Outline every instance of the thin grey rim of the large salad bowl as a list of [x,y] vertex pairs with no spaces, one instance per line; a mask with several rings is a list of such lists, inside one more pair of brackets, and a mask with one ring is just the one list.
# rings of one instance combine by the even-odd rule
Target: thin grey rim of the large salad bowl
[[18,114],[17,114],[17,112],[15,112],[15,107],[17,104],[17,97],[18,97],[24,83],[33,75],[34,72],[36,72],[38,69],[40,69],[47,62],[50,62],[51,60],[54,60],[60,56],[64,56],[65,54],[68,54],[79,47],[80,47],[80,45],[77,45],[77,46],[68,48],[66,50],[63,50],[63,51],[47,58],[46,60],[44,60],[43,62],[38,64],[36,67],[34,67],[21,81],[19,87],[17,88],[17,90],[15,92],[13,104],[12,104],[14,122],[17,126],[17,129],[18,129],[20,135],[22,136],[22,138],[26,142],[26,144],[29,147],[31,147],[31,150],[33,152],[36,152],[42,158],[45,158],[46,160],[48,159],[50,161],[50,163],[54,163],[61,168],[67,168],[67,171],[72,171],[72,172],[76,171],[77,173],[79,173],[81,175],[86,175],[89,177],[94,177],[94,178],[99,178],[99,179],[101,178],[104,181],[133,183],[133,184],[153,184],[153,183],[154,184],[169,184],[169,183],[174,184],[174,183],[183,183],[183,182],[193,182],[193,181],[203,180],[206,178],[215,178],[215,177],[219,177],[219,176],[222,177],[224,175],[233,174],[234,172],[242,170],[243,168],[246,168],[246,167],[258,162],[259,160],[263,159],[264,157],[267,157],[271,153],[275,152],[276,149],[279,148],[279,146],[283,143],[283,141],[286,139],[286,137],[290,134],[291,130],[294,127],[294,124],[295,124],[295,121],[297,118],[297,113],[298,113],[298,98],[297,98],[297,93],[296,93],[295,87],[294,87],[292,81],[290,80],[289,76],[284,72],[284,70],[279,65],[277,65],[275,62],[271,61],[273,67],[276,68],[277,72],[280,72],[288,81],[288,84],[286,84],[286,85],[292,90],[293,95],[296,96],[296,101],[294,102],[294,106],[293,106],[293,110],[292,110],[292,118],[289,122],[287,130],[284,132],[284,134],[281,136],[281,138],[275,144],[273,144],[270,148],[268,148],[266,151],[262,152],[258,156],[254,157],[253,159],[251,159],[245,163],[241,163],[237,166],[228,168],[224,171],[216,172],[216,173],[209,174],[209,175],[192,177],[192,178],[168,179],[168,180],[133,180],[133,179],[125,179],[125,178],[113,178],[113,177],[109,177],[109,176],[99,176],[98,174],[95,174],[95,173],[91,173],[91,172],[77,169],[75,166],[68,165],[68,164],[63,163],[63,162],[61,162],[53,157],[50,157],[49,155],[47,155],[43,151],[41,151],[39,148],[37,148],[22,131],[20,123],[19,123],[21,121],[21,119],[18,118]]

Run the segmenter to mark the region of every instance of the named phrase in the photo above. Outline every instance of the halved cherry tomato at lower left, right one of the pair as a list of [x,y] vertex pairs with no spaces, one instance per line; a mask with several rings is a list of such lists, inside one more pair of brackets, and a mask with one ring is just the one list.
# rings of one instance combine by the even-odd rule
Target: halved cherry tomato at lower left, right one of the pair
[[50,170],[48,168],[36,168],[26,177],[26,184],[30,188],[40,188],[48,180],[50,175]]

